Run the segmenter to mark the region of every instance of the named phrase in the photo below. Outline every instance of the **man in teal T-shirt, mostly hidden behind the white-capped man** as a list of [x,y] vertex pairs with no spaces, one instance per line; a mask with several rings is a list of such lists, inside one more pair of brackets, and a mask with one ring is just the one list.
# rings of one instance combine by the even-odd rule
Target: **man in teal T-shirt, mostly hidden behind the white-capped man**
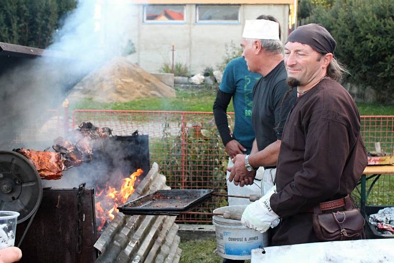
[[[278,20],[270,15],[261,15],[256,19],[265,19],[279,24]],[[279,38],[281,36],[280,24],[278,27]],[[222,82],[218,89],[215,103],[213,104],[213,115],[219,130],[226,152],[230,155],[228,167],[232,167],[233,159],[237,154],[250,154],[255,132],[252,124],[253,89],[262,77],[259,73],[248,70],[245,58],[238,57],[230,61],[226,66]],[[235,113],[234,129],[231,134],[227,121],[227,107],[232,99]],[[260,195],[264,168],[256,171],[254,184],[240,187],[227,181],[227,191],[232,196]],[[226,180],[230,172],[227,172]],[[273,176],[266,176],[268,183],[272,184]],[[265,181],[264,181],[265,182]],[[264,184],[265,185],[265,184]],[[272,187],[272,186],[271,186]],[[270,188],[270,187],[269,187]],[[229,205],[250,204],[249,199],[229,197]]]

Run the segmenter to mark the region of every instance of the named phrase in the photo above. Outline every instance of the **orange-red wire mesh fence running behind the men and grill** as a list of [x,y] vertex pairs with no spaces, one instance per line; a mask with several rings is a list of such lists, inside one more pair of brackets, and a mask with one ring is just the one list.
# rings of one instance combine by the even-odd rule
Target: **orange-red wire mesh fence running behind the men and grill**
[[[232,127],[233,114],[229,114]],[[150,159],[159,164],[173,189],[213,189],[227,193],[228,156],[211,112],[75,110],[72,128],[80,122],[113,129],[114,135],[130,135],[135,130],[149,135]],[[394,116],[362,116],[361,133],[367,151],[375,142],[393,152]],[[368,182],[370,184],[370,182]],[[369,187],[369,185],[367,185]],[[373,186],[368,204],[394,203],[394,176],[382,176]],[[195,211],[212,212],[227,205],[226,197],[213,197]],[[207,215],[182,215],[177,222],[210,223]]]

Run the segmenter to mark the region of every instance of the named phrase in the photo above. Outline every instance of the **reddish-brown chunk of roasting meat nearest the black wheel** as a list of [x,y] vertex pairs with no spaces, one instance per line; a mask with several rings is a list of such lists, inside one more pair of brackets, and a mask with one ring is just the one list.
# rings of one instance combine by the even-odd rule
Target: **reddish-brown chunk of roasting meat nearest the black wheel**
[[64,155],[57,152],[34,151],[25,148],[15,149],[25,156],[37,169],[40,177],[45,180],[56,180],[66,170]]

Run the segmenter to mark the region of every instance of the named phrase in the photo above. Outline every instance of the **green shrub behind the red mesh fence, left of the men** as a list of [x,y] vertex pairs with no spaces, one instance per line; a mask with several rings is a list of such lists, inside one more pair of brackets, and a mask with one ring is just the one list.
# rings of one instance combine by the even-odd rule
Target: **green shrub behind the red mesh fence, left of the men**
[[[167,177],[178,181],[177,187],[181,187],[182,169],[179,165],[182,161],[185,165],[185,188],[196,188],[196,182],[206,182],[208,189],[220,188],[219,182],[226,178],[224,163],[228,157],[219,132],[213,120],[203,122],[188,125],[191,127],[185,128],[185,134],[163,136],[164,141],[169,142],[165,164],[174,167],[173,173]],[[181,158],[183,154],[184,158]],[[196,170],[196,167],[200,168]]]

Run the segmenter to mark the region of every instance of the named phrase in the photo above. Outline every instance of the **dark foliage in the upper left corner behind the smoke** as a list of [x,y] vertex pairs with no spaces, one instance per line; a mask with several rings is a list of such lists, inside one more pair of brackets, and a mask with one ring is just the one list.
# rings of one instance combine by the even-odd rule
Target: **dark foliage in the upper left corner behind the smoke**
[[0,41],[45,48],[77,0],[2,0]]

